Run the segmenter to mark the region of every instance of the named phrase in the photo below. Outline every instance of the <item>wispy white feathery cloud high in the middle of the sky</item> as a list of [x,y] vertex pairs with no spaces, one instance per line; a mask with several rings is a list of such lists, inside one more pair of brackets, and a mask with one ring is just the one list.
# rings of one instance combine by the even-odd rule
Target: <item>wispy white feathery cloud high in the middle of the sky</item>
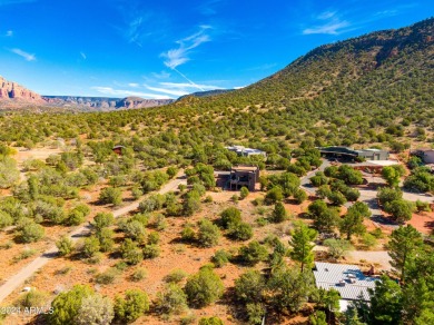
[[210,29],[210,26],[200,26],[199,31],[190,35],[184,39],[176,41],[179,47],[176,49],[170,49],[167,52],[161,53],[160,56],[165,58],[165,66],[170,69],[176,69],[177,67],[189,61],[189,53],[193,49],[197,48],[204,42],[210,41],[210,37],[206,33],[206,30]]

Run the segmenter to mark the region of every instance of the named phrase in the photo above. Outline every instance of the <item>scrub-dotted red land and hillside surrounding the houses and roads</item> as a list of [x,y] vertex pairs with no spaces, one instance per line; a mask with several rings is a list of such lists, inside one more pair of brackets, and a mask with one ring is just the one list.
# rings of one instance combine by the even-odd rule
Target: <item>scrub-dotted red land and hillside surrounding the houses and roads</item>
[[[343,165],[316,173],[310,178],[318,187],[316,197],[328,201],[307,197],[299,177],[322,165],[315,146],[378,146],[400,151],[410,144],[434,142],[433,63],[434,19],[428,19],[323,46],[240,90],[188,96],[160,108],[2,111],[0,188],[7,195],[0,198],[0,229],[8,229],[2,235],[9,242],[0,243],[0,249],[56,240],[59,257],[52,263],[62,268],[52,278],[61,282],[62,275],[71,273],[63,280],[82,280],[83,285],[52,297],[53,313],[39,319],[45,324],[108,324],[112,319],[127,324],[142,315],[162,321],[183,317],[181,324],[224,324],[201,309],[216,302],[218,308],[226,308],[219,315],[227,311],[227,319],[230,316],[240,324],[260,324],[264,315],[267,324],[302,315],[309,315],[305,322],[326,324],[332,314],[345,324],[431,324],[432,237],[423,237],[412,226],[396,228],[386,247],[396,280],[383,276],[369,292],[371,305],[361,303],[337,313],[337,293],[315,286],[313,242],[339,232],[346,240],[324,242],[332,257],[338,258],[352,244],[361,247],[361,239],[371,247],[377,239],[386,244],[387,238],[379,228],[367,233],[363,221],[371,211],[364,203],[355,203],[342,216],[341,206],[361,196],[352,187],[364,183],[361,171]],[[117,145],[120,152],[116,154]],[[228,145],[263,149],[267,158],[237,156],[225,148]],[[59,150],[43,160],[30,157],[16,164],[14,156],[26,151],[17,155],[12,147]],[[430,171],[420,161],[410,162],[407,187],[433,191]],[[284,173],[262,174],[260,191],[244,189],[239,197],[214,201],[221,194],[216,189],[215,169],[236,164]],[[378,200],[396,221],[404,223],[414,206],[394,187],[405,170],[384,170],[391,188],[379,190]],[[178,186],[174,191],[156,193],[184,174],[187,185],[174,183]],[[309,204],[299,207],[297,216],[288,213],[289,204],[307,199]],[[138,200],[130,215],[115,218],[111,214],[115,207]],[[416,207],[431,210],[424,203]],[[73,243],[69,227],[86,221],[90,223],[88,236]],[[292,238],[280,240],[283,234]],[[37,250],[29,252],[17,253],[16,263]],[[189,274],[170,270],[169,262],[188,266]],[[159,284],[158,292],[146,293],[137,288],[145,285],[129,284],[145,282],[147,276],[158,279],[152,283],[154,288]],[[29,286],[36,287],[32,282],[38,279],[43,280],[36,274]],[[102,292],[87,284],[98,284]],[[50,278],[47,288],[51,285]],[[109,286],[115,288],[108,290]],[[117,295],[102,295],[109,292]],[[32,289],[17,303],[42,306],[47,295]],[[199,308],[204,317],[195,319],[194,311]]]

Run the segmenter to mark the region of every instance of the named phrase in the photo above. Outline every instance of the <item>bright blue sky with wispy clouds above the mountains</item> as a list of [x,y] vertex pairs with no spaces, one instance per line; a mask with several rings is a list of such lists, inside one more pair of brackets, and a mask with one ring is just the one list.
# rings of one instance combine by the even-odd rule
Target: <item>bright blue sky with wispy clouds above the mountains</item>
[[433,13],[432,0],[0,0],[0,76],[41,95],[177,98]]

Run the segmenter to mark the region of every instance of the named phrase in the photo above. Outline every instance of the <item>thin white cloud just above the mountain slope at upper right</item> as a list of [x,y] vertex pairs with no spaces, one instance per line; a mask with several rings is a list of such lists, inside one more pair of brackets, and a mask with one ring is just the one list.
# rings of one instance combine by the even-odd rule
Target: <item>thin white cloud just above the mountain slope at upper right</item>
[[325,33],[325,35],[339,35],[348,31],[351,26],[349,21],[341,19],[337,11],[323,11],[316,17],[318,24],[306,28],[303,30],[304,35]]

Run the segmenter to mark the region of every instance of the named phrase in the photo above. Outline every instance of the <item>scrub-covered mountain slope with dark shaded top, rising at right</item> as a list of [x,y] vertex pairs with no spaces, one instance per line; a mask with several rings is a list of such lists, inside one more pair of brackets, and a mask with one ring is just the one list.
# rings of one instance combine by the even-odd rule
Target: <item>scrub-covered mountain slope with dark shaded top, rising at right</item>
[[[318,47],[249,87],[197,102],[299,106],[319,111],[433,107],[434,18]],[[430,95],[431,93],[431,95]]]

